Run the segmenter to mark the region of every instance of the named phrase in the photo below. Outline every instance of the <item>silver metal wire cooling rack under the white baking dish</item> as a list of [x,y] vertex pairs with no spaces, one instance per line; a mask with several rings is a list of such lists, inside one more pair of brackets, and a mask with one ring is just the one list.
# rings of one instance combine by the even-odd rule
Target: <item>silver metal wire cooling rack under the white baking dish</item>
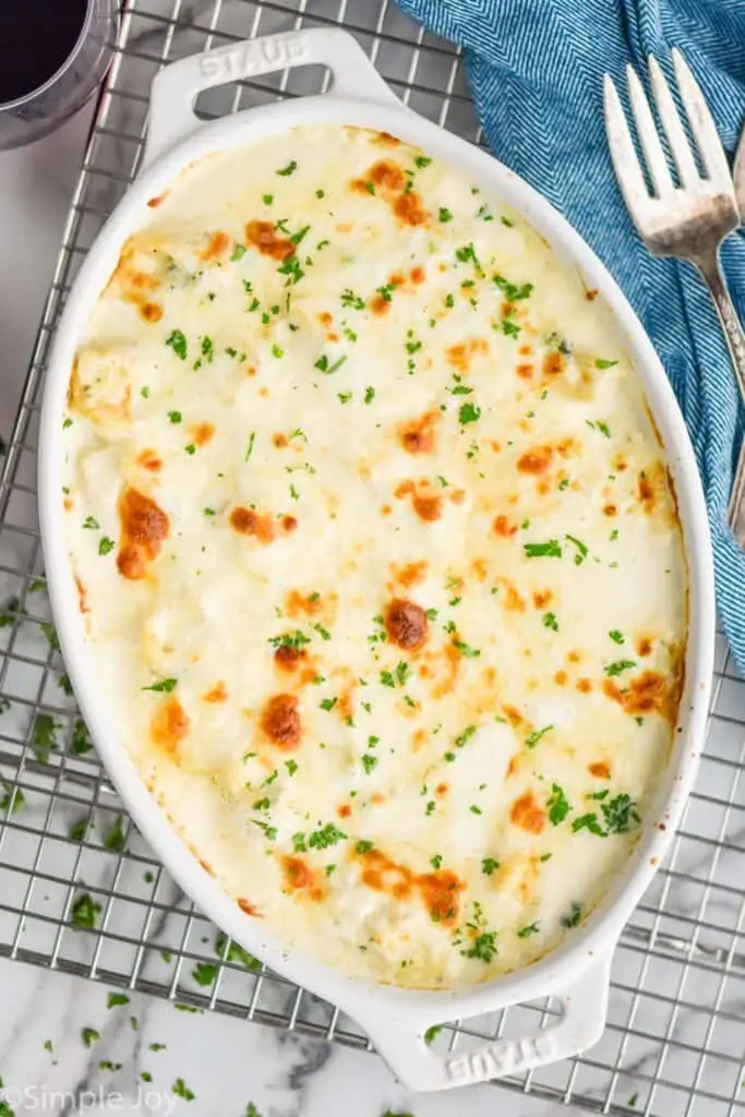
[[[122,812],[50,623],[36,524],[40,389],[70,283],[137,171],[147,89],[164,63],[240,38],[342,25],[412,108],[477,143],[478,124],[459,52],[388,0],[126,0],[123,8],[0,479],[0,956],[369,1047],[333,1006],[219,936]],[[323,70],[273,75],[210,90],[198,109],[216,116],[321,92],[325,82]],[[507,1085],[592,1113],[745,1114],[744,773],[745,686],[720,640],[697,791],[617,949],[605,1035],[583,1057]],[[453,1023],[433,1042],[466,1049],[555,1012],[551,1003],[518,1006]]]

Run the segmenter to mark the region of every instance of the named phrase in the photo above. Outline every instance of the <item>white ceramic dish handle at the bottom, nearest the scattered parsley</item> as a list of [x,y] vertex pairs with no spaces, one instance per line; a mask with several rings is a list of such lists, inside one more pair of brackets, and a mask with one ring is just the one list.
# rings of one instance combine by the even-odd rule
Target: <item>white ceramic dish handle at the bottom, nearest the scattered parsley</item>
[[533,1070],[569,1059],[596,1043],[605,1028],[608,990],[613,952],[604,954],[582,977],[561,994],[563,1015],[556,1023],[536,1028],[518,1039],[493,1040],[481,1047],[438,1053],[412,1035],[405,1012],[401,1018],[356,1013],[375,1049],[397,1077],[412,1090],[446,1090],[484,1082],[504,1075]]

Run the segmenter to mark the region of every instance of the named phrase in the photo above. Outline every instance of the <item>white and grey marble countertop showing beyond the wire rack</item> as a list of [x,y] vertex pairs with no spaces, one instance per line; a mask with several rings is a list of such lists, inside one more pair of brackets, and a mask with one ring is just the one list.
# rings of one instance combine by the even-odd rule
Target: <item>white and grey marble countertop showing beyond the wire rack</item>
[[[0,435],[6,440],[87,127],[84,112],[32,146],[0,153]],[[359,1117],[382,1117],[389,1109],[414,1117],[579,1113],[494,1086],[416,1096],[374,1054],[216,1013],[178,1012],[143,994],[109,1009],[105,986],[17,962],[0,961],[0,991],[2,1117],[32,1111],[242,1117],[252,1114],[249,1102],[262,1117],[347,1117],[352,1101]],[[84,1029],[93,1030],[89,1048]]]

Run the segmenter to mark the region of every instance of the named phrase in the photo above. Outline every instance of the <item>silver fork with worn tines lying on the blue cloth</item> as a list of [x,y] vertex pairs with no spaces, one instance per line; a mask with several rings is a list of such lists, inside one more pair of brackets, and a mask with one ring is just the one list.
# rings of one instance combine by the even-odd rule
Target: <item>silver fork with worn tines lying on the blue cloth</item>
[[[675,162],[679,185],[672,181],[655,117],[634,70],[627,68],[629,102],[646,160],[652,192],[647,189],[631,132],[610,75],[605,75],[605,130],[611,159],[629,213],[653,256],[688,260],[707,285],[716,308],[745,402],[745,333],[733,306],[719,266],[719,247],[739,228],[741,216],[727,157],[704,95],[682,55],[674,48],[672,65],[696,152],[686,136],[670,87],[656,58],[649,76],[658,116]],[[703,175],[696,155],[706,171]],[[737,542],[745,545],[745,445],[739,454],[729,498],[728,519]]]

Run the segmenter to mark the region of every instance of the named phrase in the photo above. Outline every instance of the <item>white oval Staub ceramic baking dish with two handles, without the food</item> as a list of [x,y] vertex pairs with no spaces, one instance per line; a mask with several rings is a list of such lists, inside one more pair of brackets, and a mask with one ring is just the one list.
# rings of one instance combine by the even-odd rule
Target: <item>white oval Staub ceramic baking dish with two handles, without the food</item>
[[[194,98],[202,89],[309,64],[328,67],[331,94],[242,112],[209,125],[200,125],[193,115]],[[678,494],[689,580],[685,688],[672,754],[655,810],[624,871],[574,935],[527,970],[464,990],[419,992],[366,983],[297,951],[289,953],[260,919],[243,914],[200,866],[142,783],[92,685],[94,652],[86,641],[64,542],[59,476],[69,370],[82,327],[116,267],[122,246],[145,218],[147,200],[166,190],[188,164],[210,153],[308,124],[375,128],[423,147],[514,207],[560,257],[571,261],[617,317]],[[102,760],[139,829],[199,907],[267,965],[357,1020],[411,1088],[466,1085],[575,1054],[603,1031],[613,948],[670,843],[696,775],[708,709],[715,604],[706,507],[688,436],[655,350],[611,276],[550,203],[490,156],[404,108],[356,41],[343,31],[273,36],[188,58],[162,70],[153,85],[145,164],[90,249],[70,293],[57,331],[41,414],[39,502],[49,591],[67,669]],[[563,1014],[550,1027],[536,1028],[518,1040],[495,1040],[476,1050],[445,1054],[424,1042],[424,1032],[433,1024],[547,994],[563,1003]]]

